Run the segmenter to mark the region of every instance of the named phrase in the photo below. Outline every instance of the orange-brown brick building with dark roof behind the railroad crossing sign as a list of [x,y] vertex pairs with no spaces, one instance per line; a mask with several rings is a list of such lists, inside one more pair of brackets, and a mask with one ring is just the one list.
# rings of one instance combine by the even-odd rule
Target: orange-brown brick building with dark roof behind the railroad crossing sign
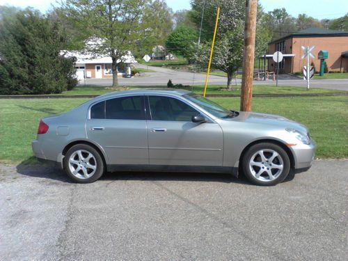
[[[274,54],[276,51],[288,54],[279,64],[280,73],[302,71],[303,65],[307,63],[306,59],[301,59],[302,45],[306,47],[315,45],[312,52],[315,58],[310,58],[310,63],[314,63],[315,70],[319,71],[320,68],[318,53],[326,50],[329,53],[329,57],[325,60],[329,71],[348,72],[348,32],[310,28],[269,42],[269,54]],[[275,72],[276,64],[272,58],[267,58],[269,59],[268,70]]]

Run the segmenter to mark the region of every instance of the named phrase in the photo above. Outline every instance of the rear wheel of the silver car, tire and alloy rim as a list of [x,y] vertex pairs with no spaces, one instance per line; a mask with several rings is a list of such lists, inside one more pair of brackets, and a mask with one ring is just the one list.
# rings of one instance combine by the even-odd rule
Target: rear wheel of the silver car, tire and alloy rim
[[63,161],[64,171],[78,183],[91,183],[102,177],[105,166],[102,156],[86,144],[73,145]]

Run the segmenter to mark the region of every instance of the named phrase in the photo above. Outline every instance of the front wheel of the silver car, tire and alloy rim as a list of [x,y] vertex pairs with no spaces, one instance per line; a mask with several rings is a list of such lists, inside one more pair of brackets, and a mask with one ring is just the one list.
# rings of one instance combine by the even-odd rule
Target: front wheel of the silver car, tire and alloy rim
[[242,168],[244,175],[251,183],[273,186],[285,180],[289,174],[290,159],[279,145],[258,143],[246,151]]

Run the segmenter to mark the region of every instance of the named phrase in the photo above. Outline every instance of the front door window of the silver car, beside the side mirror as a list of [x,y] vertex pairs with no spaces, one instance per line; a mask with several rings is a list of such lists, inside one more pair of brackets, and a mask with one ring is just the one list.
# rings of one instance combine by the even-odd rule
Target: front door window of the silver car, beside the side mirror
[[198,114],[188,104],[171,97],[150,96],[152,120],[191,121]]

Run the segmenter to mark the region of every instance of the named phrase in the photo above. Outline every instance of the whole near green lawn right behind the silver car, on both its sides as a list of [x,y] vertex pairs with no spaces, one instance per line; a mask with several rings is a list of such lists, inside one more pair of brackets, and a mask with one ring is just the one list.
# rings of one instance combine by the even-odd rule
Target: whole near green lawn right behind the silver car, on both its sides
[[[215,102],[239,109],[237,97],[215,97]],[[40,118],[63,113],[88,99],[0,100],[0,161],[35,163],[31,141]],[[348,97],[259,97],[253,111],[276,113],[307,125],[317,142],[317,157],[348,157]]]

